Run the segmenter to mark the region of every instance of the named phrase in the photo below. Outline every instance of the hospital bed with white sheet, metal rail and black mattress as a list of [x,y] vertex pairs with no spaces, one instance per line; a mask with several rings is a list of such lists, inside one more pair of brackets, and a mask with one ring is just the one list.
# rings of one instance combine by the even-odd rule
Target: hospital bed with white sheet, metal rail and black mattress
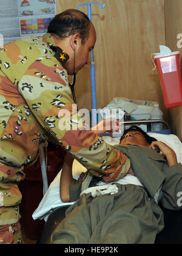
[[[161,122],[162,130],[157,133],[151,131],[152,123]],[[180,139],[174,134],[170,134],[169,125],[163,120],[129,120],[124,122],[124,130],[131,125],[143,126],[146,125],[149,130],[149,135],[160,140],[169,147],[171,147],[177,154],[178,162],[182,164],[182,143]],[[110,145],[116,145],[120,142],[120,137],[110,137],[104,134],[103,139]],[[83,165],[78,161],[73,161],[73,178],[77,179],[79,174],[86,171]],[[61,171],[59,171],[56,178],[50,184],[49,189],[45,193],[38,208],[33,213],[33,219],[40,219],[45,221],[44,229],[37,241],[38,244],[50,243],[50,238],[53,230],[62,221],[65,216],[65,212],[73,202],[64,203],[59,196],[59,181]],[[182,203],[182,199],[181,199]],[[157,235],[155,243],[162,244],[182,244],[182,210],[174,211],[167,210],[161,206],[164,212],[164,229]]]

